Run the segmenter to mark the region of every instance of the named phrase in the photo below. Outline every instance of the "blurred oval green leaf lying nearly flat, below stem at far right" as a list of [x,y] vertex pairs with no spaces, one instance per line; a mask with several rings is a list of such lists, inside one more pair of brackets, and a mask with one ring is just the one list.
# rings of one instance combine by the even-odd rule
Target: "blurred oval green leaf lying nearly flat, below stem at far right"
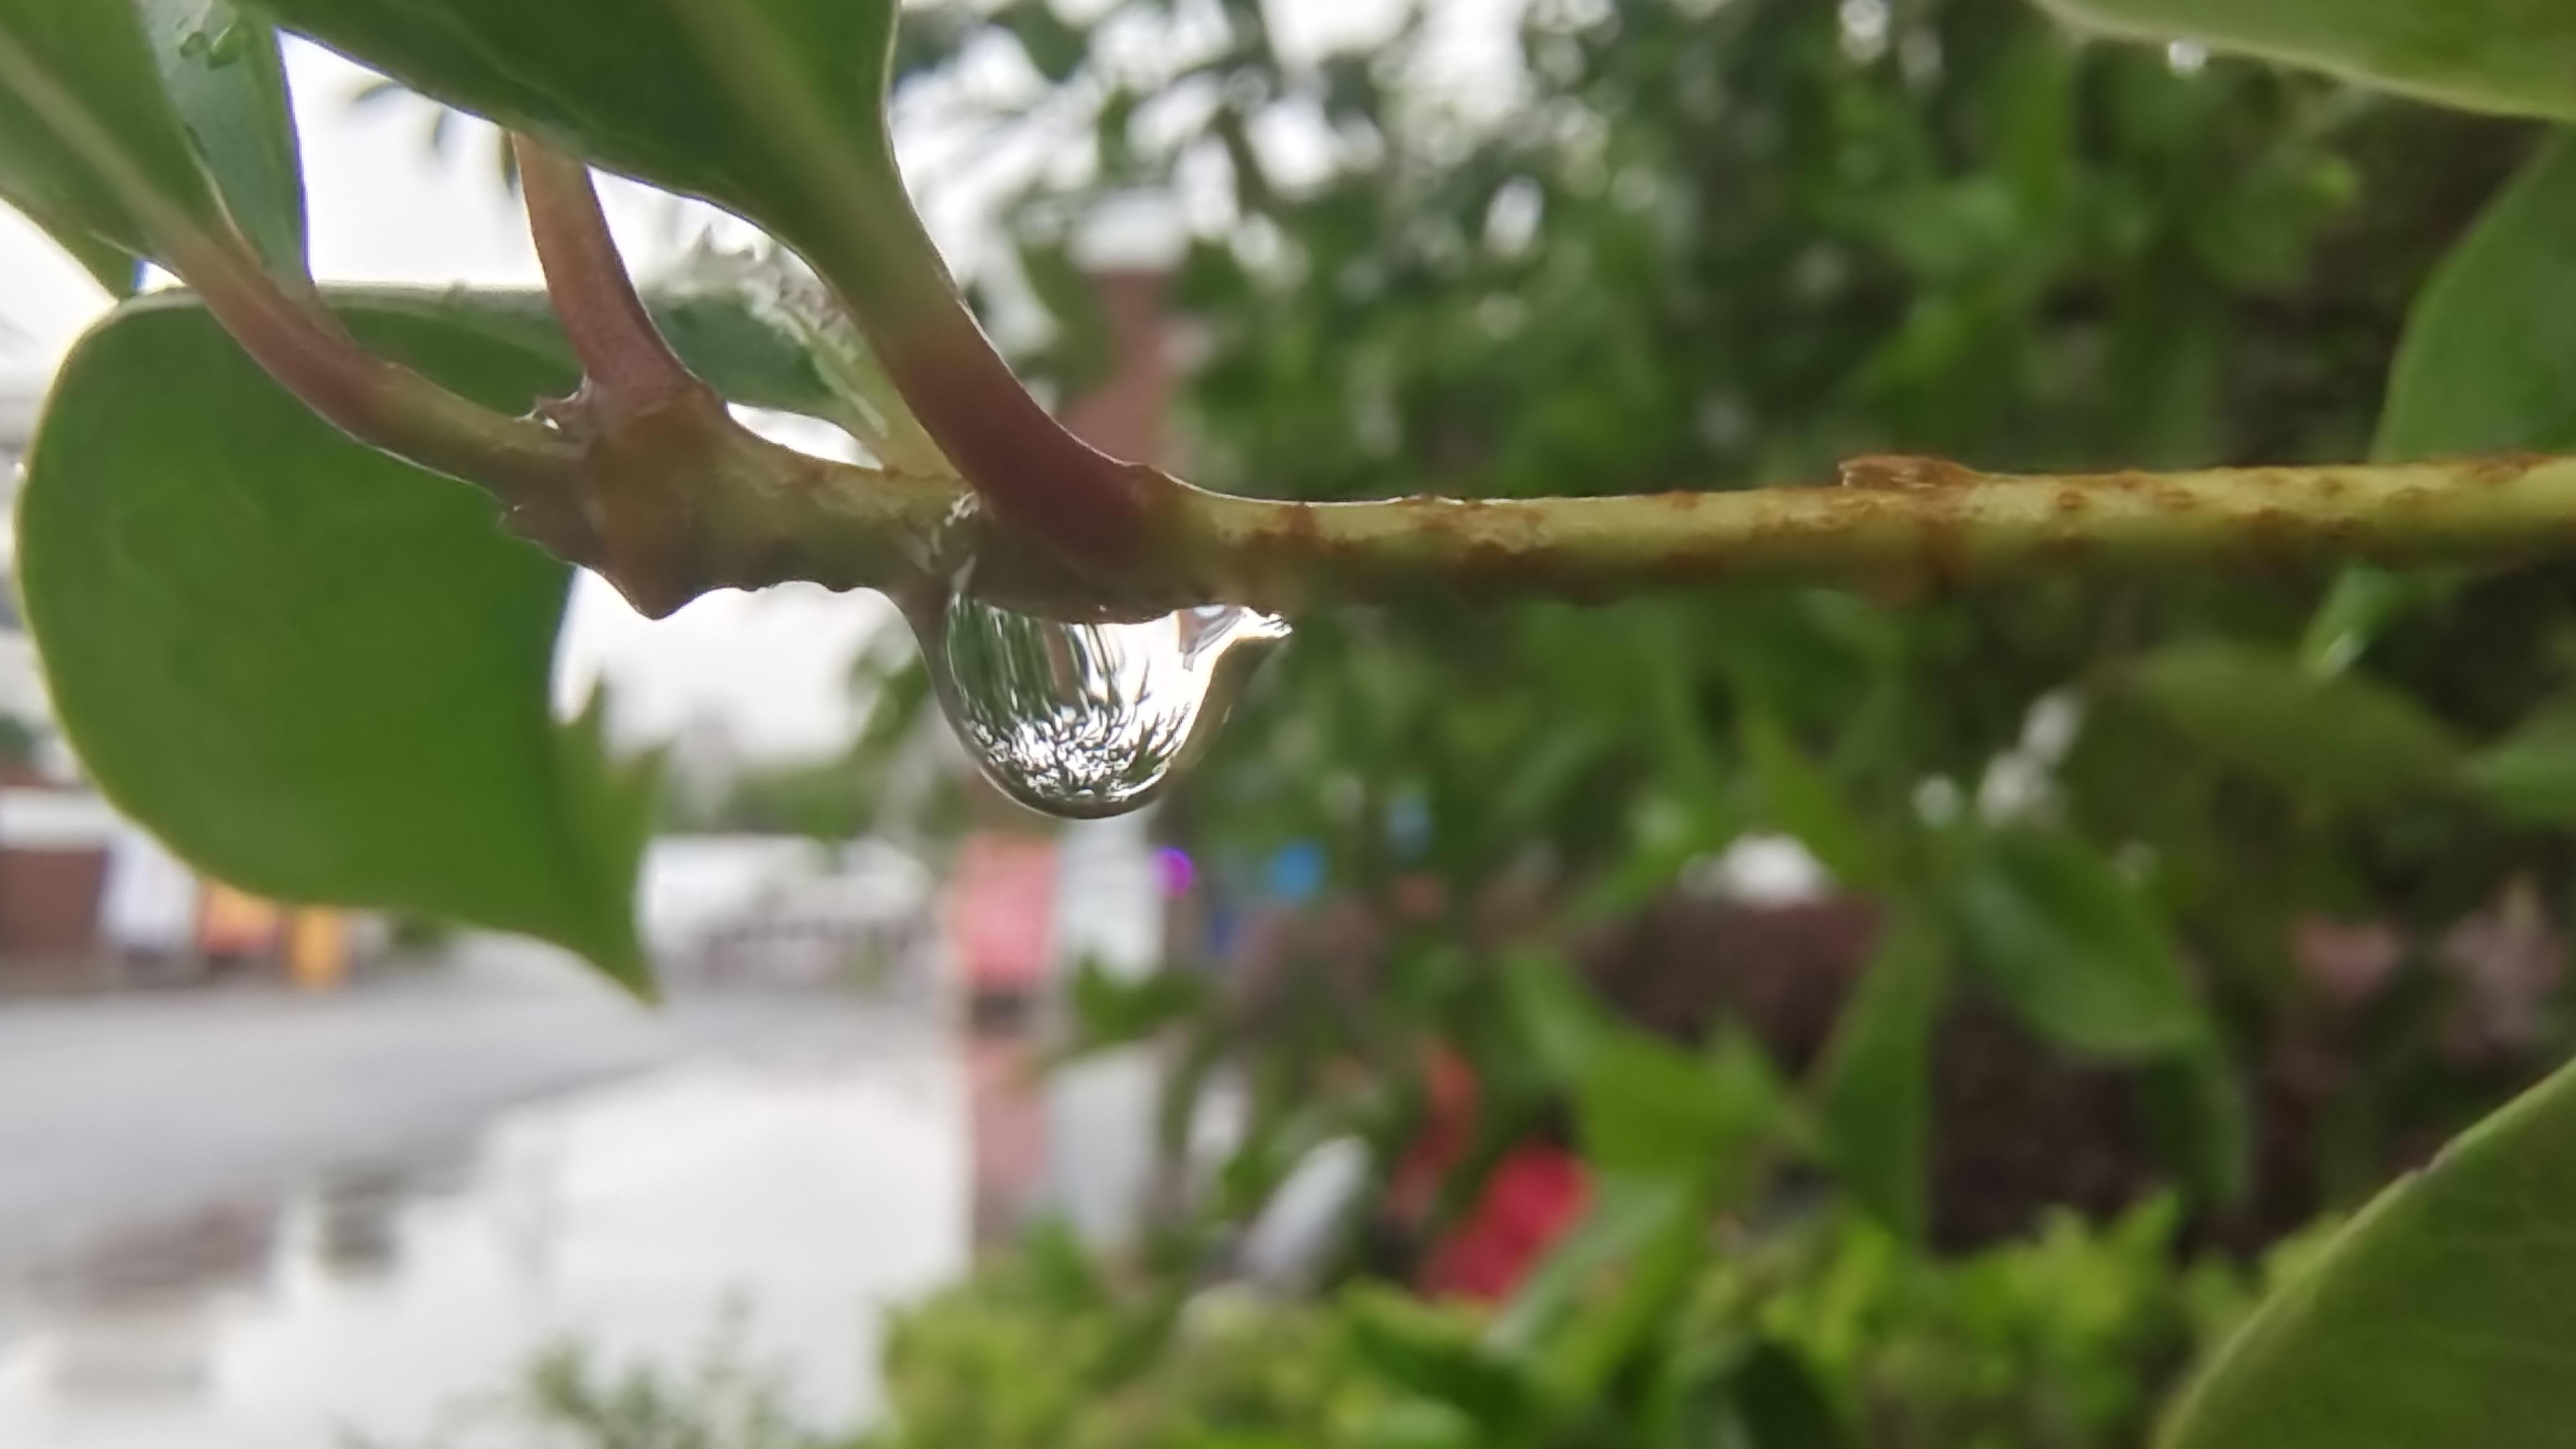
[[2172,645],[2133,688],[2177,730],[2267,781],[2339,804],[2450,792],[2460,745],[2411,699],[2362,676],[2316,678],[2246,645]]

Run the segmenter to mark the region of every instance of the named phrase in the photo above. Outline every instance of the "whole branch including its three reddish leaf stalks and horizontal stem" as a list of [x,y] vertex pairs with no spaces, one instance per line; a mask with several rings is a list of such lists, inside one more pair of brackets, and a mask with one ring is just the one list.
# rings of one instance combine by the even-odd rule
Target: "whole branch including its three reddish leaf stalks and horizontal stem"
[[920,593],[969,578],[997,603],[1105,619],[1193,603],[1296,614],[1422,593],[1607,598],[1739,580],[1919,590],[2043,567],[2576,547],[2568,459],[2097,477],[1860,459],[1839,487],[1492,503],[1200,492],[1074,443],[1038,410],[976,333],[912,211],[866,206],[896,186],[891,155],[858,165],[842,152],[842,170],[871,175],[827,168],[819,180],[858,183],[806,188],[840,201],[793,217],[788,240],[860,302],[853,312],[956,462],[953,477],[832,464],[732,425],[634,304],[572,160],[533,168],[533,224],[592,384],[613,379],[631,407],[585,397],[556,410],[562,425],[505,418],[368,356],[317,299],[281,289],[222,217],[157,196],[8,34],[0,88],[116,191],[286,389],[366,443],[489,487],[515,529],[600,570],[649,614],[714,588],[791,580]]

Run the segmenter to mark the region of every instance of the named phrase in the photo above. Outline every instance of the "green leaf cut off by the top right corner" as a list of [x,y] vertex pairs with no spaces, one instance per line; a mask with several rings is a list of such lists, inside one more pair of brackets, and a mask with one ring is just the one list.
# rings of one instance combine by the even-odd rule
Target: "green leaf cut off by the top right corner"
[[2558,0],[2040,0],[2081,26],[2197,41],[2465,111],[2576,119],[2576,8]]

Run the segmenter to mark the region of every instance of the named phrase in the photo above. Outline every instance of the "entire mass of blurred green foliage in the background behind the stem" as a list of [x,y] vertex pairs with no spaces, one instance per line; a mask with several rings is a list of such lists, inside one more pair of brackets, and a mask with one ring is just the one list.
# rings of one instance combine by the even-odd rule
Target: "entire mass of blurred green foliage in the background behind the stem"
[[[979,13],[943,13],[974,44]],[[1097,376],[1064,258],[1131,193],[1182,193],[1180,462],[1216,487],[2566,438],[2563,162],[2524,121],[2084,41],[2020,0],[1538,0],[1502,93],[1427,83],[1422,13],[1324,54],[1252,3],[1149,62],[1118,41],[1172,13],[981,18],[1030,62],[999,124],[1092,126],[1012,204],[1056,320],[1023,361]],[[2571,583],[2257,562],[1301,619],[1162,817],[1252,905],[1175,951],[1221,990],[1074,1000],[1082,1049],[1175,1062],[1170,1181],[1208,1083],[1249,1104],[1141,1253],[1154,1312],[1347,1137],[1368,1189],[1327,1297],[1273,1312],[1401,1346],[1378,1366],[1443,1408],[1391,1410],[1396,1439],[2141,1441],[2249,1302],[2218,1248],[2357,1204],[2563,1049]],[[1759,933],[1708,900],[1759,835],[1865,920],[1808,985],[1821,1029],[1739,990]],[[1262,908],[1291,846],[1324,890]],[[1610,980],[1638,957],[1680,985]],[[1443,1052],[1476,1109],[1430,1207],[1394,1212]],[[1525,1142],[1577,1150],[1595,1196],[1507,1328],[1365,1287],[1409,1281]]]

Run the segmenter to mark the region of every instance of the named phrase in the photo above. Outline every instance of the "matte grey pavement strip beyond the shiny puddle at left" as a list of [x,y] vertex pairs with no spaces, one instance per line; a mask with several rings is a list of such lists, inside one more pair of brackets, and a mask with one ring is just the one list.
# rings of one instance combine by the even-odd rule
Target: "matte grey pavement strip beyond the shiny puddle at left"
[[585,1083],[889,1029],[904,1024],[817,993],[654,1011],[551,951],[487,938],[453,969],[343,995],[0,1003],[0,1271],[325,1168],[456,1147],[500,1109]]

